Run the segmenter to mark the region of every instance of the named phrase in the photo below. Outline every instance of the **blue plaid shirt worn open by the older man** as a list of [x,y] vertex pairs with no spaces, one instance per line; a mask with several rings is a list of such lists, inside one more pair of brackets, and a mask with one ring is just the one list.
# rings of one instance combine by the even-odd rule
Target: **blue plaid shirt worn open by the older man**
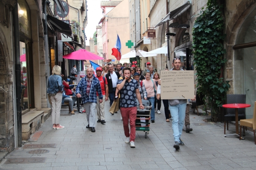
[[87,81],[85,79],[86,77],[87,76],[82,78],[81,81],[76,86],[76,94],[78,94],[78,93],[81,94],[82,103],[87,103],[87,102],[97,103],[97,93],[96,92],[98,92],[98,94],[99,94],[99,99],[103,99],[99,79],[97,79],[95,77],[95,75],[93,75],[93,80],[92,80],[91,86],[90,86],[90,93],[89,93],[89,95],[87,95],[87,93],[86,93]]

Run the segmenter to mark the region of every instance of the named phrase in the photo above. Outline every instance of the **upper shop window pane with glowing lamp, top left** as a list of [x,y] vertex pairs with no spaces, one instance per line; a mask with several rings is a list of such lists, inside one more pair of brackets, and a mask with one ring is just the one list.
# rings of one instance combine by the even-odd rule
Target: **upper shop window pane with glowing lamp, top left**
[[18,0],[18,17],[20,34],[31,38],[30,9],[25,0]]

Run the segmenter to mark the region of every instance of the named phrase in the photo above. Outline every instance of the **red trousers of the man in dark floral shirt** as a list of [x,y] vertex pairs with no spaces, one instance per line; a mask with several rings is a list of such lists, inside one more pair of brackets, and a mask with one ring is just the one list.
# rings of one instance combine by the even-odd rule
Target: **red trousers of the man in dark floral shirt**
[[[131,107],[131,108],[120,108],[121,115],[123,118],[123,126],[125,130],[125,136],[130,137],[130,142],[135,141],[136,136],[136,127],[135,127],[135,120],[137,116],[137,107]],[[130,127],[131,127],[131,133],[129,130],[129,119],[130,119]]]

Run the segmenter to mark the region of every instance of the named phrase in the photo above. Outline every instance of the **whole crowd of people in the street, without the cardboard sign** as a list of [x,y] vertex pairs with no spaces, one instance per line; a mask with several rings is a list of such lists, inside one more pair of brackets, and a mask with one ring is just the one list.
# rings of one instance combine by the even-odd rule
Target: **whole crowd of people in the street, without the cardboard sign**
[[[173,59],[172,65],[171,70],[183,70],[180,58]],[[95,132],[96,122],[106,123],[105,102],[109,100],[111,106],[114,100],[119,98],[120,119],[123,121],[126,136],[125,143],[129,143],[130,147],[135,147],[137,100],[140,103],[140,109],[144,109],[142,99],[151,103],[151,123],[155,122],[155,113],[161,114],[160,75],[154,70],[150,62],[147,62],[146,66],[142,70],[137,67],[136,63],[124,62],[116,65],[108,63],[102,65],[102,67],[97,67],[96,73],[94,73],[93,68],[89,67],[86,70],[87,75],[80,80],[76,89],[72,91],[74,85],[65,82],[64,75],[61,74],[61,67],[55,65],[47,85],[47,94],[52,105],[52,128],[64,128],[60,125],[61,105],[64,102],[69,103],[70,113],[75,114],[76,110],[73,105],[77,97],[81,98],[84,112],[87,114],[88,125],[86,128]],[[76,72],[76,65],[74,65],[71,74],[76,75]],[[180,139],[184,122],[186,132],[192,131],[192,128],[189,127],[189,104],[191,103],[187,99],[163,99],[166,122],[170,122],[169,119],[172,119],[174,147],[176,149],[180,148],[179,145],[184,145]]]

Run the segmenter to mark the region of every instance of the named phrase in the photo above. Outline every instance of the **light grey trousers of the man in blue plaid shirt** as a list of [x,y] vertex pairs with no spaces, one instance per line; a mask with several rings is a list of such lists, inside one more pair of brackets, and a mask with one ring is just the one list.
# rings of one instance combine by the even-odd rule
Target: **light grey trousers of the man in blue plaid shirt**
[[84,103],[84,109],[86,110],[87,122],[89,124],[89,127],[95,127],[96,125],[95,108],[96,108],[96,103],[93,103],[93,102]]

